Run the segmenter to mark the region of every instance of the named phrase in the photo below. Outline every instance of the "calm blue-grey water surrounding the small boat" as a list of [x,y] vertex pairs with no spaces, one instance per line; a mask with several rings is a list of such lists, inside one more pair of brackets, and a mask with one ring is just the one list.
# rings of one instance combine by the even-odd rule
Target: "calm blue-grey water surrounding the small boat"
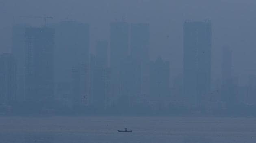
[[256,143],[256,118],[1,117],[0,143]]

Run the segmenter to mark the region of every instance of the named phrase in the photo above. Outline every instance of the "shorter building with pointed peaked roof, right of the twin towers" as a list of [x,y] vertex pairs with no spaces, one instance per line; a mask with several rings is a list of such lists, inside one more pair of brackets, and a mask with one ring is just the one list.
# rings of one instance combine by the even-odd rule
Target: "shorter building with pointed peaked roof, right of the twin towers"
[[169,97],[169,61],[158,57],[155,62],[150,62],[150,98],[153,101],[164,103]]

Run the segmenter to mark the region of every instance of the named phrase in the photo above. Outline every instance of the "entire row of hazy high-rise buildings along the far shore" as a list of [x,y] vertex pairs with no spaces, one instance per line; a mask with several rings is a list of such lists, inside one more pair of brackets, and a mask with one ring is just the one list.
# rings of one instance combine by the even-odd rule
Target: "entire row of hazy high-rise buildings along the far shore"
[[185,21],[183,28],[183,73],[171,87],[169,61],[150,61],[148,23],[111,23],[110,41],[96,41],[95,54],[89,50],[88,24],[14,25],[12,52],[0,56],[1,109],[125,112],[254,105],[256,78],[246,88],[238,86],[228,47],[223,48],[221,85],[211,85],[211,22]]

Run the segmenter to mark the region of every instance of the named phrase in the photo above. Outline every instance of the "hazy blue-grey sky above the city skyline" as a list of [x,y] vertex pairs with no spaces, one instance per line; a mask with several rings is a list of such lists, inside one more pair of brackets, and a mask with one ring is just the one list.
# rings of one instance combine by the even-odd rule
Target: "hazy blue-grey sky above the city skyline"
[[256,73],[255,0],[0,0],[0,52],[11,48],[13,23],[41,25],[41,19],[18,16],[52,16],[55,23],[74,20],[91,25],[91,46],[109,39],[109,23],[150,23],[150,56],[170,61],[172,76],[182,72],[182,28],[186,19],[211,19],[213,24],[213,77],[220,76],[221,48],[233,50],[234,75],[245,82]]

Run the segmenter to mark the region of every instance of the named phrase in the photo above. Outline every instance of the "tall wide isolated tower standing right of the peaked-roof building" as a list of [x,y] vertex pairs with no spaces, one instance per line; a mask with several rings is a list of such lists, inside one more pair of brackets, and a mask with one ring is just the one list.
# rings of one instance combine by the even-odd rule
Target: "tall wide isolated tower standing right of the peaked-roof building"
[[199,105],[210,91],[211,22],[186,21],[183,29],[183,83],[185,98]]

